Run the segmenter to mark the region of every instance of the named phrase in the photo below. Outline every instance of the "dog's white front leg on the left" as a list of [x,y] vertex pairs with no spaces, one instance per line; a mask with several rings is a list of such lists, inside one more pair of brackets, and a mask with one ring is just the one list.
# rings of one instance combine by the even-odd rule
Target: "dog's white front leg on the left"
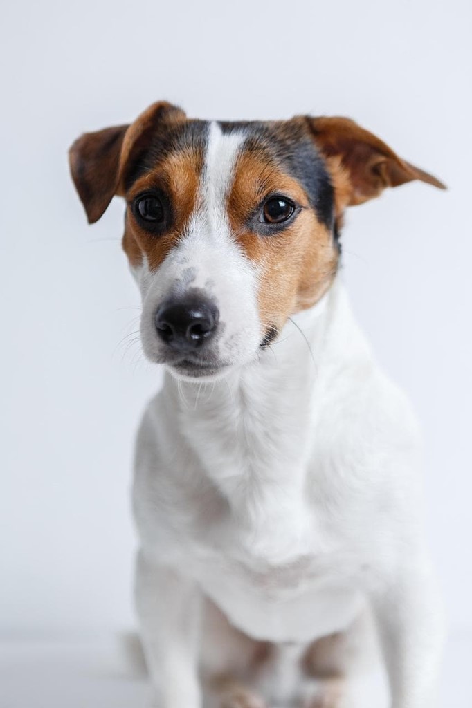
[[136,605],[157,706],[200,708],[200,590],[193,581],[141,551],[137,557]]

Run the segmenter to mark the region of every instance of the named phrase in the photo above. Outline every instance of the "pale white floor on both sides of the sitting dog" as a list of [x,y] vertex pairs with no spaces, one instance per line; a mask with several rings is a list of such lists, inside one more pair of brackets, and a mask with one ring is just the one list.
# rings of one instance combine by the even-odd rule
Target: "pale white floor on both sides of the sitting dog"
[[[0,642],[0,708],[146,708],[135,639]],[[439,708],[472,706],[472,635],[446,649]],[[184,708],[184,707],[182,707]]]

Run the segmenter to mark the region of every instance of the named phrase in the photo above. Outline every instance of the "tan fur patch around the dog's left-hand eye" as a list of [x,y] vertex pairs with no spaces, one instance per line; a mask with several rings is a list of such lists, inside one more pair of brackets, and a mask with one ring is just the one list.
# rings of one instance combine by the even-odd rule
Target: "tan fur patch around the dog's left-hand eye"
[[[196,207],[201,169],[202,156],[184,150],[169,154],[155,170],[135,181],[126,194],[128,212],[123,236],[123,249],[132,265],[139,265],[142,255],[145,255],[150,270],[159,268],[176,240],[184,233]],[[131,209],[137,195],[152,188],[163,190],[172,205],[172,227],[161,236],[143,229]]]

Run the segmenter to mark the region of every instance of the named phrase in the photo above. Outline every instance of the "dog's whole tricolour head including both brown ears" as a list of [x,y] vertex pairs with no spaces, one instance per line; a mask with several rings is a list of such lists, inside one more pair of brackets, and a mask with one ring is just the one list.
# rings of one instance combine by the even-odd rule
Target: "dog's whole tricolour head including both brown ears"
[[206,122],[156,103],[70,156],[89,222],[127,202],[145,354],[198,380],[257,358],[322,297],[347,205],[413,179],[442,187],[347,118]]

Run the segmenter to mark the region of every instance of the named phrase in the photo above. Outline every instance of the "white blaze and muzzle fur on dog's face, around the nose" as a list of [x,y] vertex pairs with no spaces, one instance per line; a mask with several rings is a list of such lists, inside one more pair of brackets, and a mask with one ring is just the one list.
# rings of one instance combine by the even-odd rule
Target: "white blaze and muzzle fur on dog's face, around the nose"
[[187,288],[204,290],[220,311],[220,334],[210,354],[222,363],[243,364],[254,357],[264,337],[257,314],[257,270],[230,233],[225,198],[244,135],[223,135],[210,123],[206,164],[197,207],[180,243],[150,273],[147,263],[135,270],[143,298],[141,338],[146,355],[165,362],[165,346],[156,336],[157,306]]

